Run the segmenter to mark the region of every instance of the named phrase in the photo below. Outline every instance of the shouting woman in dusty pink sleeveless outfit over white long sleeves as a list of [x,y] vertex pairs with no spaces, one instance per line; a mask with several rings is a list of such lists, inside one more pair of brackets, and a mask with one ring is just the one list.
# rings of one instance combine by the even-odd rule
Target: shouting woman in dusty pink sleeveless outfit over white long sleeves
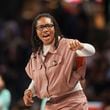
[[33,52],[25,68],[32,82],[24,92],[25,105],[31,106],[37,96],[47,99],[45,110],[88,110],[80,80],[85,77],[86,57],[95,48],[64,38],[47,13],[35,17],[32,31]]

